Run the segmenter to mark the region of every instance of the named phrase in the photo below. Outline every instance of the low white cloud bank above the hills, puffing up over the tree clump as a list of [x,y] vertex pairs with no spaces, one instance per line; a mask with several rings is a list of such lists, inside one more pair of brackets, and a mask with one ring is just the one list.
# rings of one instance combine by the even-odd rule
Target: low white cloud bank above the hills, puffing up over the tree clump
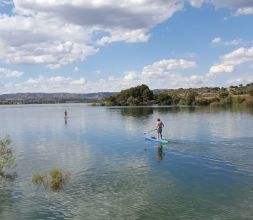
[[[197,75],[182,76],[183,71],[196,67],[193,61],[183,59],[169,59],[154,62],[143,67],[140,72],[129,71],[120,77],[108,77],[99,81],[87,81],[84,78],[74,79],[71,77],[54,76],[30,78],[19,83],[9,83],[5,85],[6,92],[101,92],[101,91],[120,91],[142,83],[151,88],[177,88],[194,87],[202,85],[204,78]],[[1,90],[0,90],[1,92]]]

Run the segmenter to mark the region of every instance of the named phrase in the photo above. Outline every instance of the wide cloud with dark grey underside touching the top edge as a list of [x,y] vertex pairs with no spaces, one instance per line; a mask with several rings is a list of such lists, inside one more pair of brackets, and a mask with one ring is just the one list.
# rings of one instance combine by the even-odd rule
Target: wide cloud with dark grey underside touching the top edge
[[54,15],[78,26],[121,27],[137,30],[151,27],[181,10],[178,0],[14,0],[22,14]]

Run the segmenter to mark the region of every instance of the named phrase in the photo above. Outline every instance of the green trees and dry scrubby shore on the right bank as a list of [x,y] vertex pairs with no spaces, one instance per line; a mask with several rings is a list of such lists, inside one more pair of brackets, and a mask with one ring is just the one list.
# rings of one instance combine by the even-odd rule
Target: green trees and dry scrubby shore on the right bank
[[138,106],[138,105],[188,105],[226,107],[243,105],[253,108],[253,83],[239,86],[203,87],[189,89],[164,89],[151,91],[140,85],[122,90],[120,93],[104,98],[94,105]]

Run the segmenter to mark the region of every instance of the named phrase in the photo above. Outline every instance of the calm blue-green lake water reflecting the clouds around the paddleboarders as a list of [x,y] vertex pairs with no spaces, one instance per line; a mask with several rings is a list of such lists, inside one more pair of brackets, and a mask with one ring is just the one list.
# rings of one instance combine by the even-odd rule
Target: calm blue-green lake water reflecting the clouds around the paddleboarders
[[[163,147],[144,140],[157,117]],[[252,219],[253,111],[0,106],[0,125],[18,173],[0,181],[1,220]],[[31,183],[54,167],[71,173],[64,191]]]

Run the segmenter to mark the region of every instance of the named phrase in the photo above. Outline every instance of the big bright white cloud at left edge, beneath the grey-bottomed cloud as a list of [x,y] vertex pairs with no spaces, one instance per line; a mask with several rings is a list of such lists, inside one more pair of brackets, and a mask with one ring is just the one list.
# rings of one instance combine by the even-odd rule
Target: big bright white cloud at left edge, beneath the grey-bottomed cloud
[[0,32],[0,60],[8,64],[56,68],[97,52],[82,43],[89,39],[88,32],[54,19],[0,15]]

